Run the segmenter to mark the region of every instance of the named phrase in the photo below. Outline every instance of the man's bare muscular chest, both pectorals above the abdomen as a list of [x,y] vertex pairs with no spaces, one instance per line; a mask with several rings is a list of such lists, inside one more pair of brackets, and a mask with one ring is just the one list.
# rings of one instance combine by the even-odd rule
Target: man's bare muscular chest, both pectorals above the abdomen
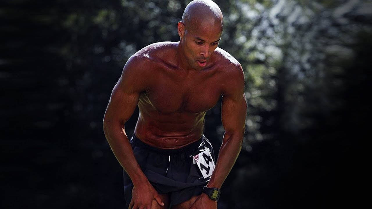
[[162,75],[147,91],[147,99],[162,113],[205,112],[221,96],[216,74],[201,73],[185,77]]

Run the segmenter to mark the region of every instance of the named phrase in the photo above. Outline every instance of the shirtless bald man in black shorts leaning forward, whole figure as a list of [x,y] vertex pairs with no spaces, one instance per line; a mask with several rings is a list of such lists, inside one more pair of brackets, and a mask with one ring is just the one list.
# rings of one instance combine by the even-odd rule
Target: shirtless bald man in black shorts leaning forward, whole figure
[[[177,26],[179,42],[151,44],[126,62],[103,128],[125,170],[129,209],[217,209],[219,189],[241,149],[247,110],[241,65],[217,47],[222,26],[217,4],[192,1]],[[214,163],[204,116],[221,96],[225,133]],[[137,105],[128,140],[124,123]]]

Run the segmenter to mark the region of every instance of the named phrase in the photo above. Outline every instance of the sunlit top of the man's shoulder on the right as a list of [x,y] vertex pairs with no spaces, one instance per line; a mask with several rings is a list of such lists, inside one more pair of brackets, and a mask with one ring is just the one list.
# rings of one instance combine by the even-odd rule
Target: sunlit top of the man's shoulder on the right
[[216,48],[215,53],[218,59],[218,65],[221,66],[219,70],[222,73],[230,74],[232,76],[238,76],[243,73],[243,69],[238,60],[236,60],[230,53],[221,49]]

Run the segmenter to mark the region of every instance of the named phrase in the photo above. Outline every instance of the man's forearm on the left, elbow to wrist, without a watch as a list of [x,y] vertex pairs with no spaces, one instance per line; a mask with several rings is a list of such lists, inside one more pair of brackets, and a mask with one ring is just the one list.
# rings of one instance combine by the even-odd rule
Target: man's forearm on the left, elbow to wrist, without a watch
[[131,144],[129,144],[128,136],[125,134],[124,128],[121,128],[119,124],[115,125],[105,121],[103,123],[103,130],[116,159],[126,173],[128,173],[133,184],[136,185],[147,180],[147,177],[142,172],[140,165],[138,165],[134,157]]

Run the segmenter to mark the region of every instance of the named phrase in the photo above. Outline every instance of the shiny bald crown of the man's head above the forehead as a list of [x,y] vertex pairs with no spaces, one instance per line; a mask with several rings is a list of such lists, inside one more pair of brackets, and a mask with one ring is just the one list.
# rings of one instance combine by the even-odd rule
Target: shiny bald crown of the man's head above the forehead
[[199,27],[210,27],[220,25],[221,31],[224,24],[221,9],[211,0],[194,0],[185,8],[182,22],[186,29],[198,29]]

